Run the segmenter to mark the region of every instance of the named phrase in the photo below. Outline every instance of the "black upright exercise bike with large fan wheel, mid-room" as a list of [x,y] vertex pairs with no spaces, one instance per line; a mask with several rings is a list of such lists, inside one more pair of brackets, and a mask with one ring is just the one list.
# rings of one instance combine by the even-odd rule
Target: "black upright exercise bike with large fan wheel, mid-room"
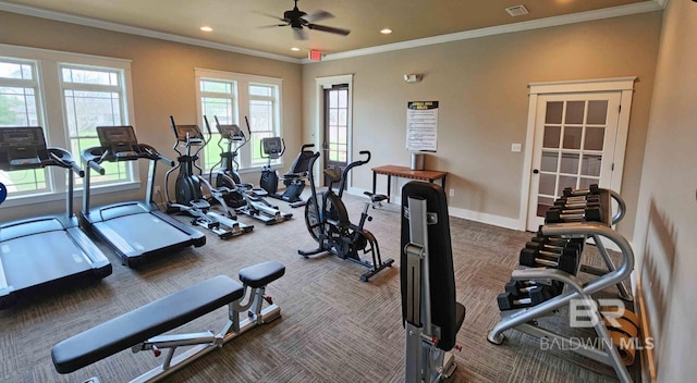
[[[368,215],[368,208],[388,199],[388,197],[366,193],[366,195],[370,197],[370,200],[366,202],[357,225],[351,223],[348,220],[346,206],[341,199],[346,186],[348,172],[353,168],[360,166],[370,161],[369,151],[360,151],[360,155],[367,156],[368,158],[365,161],[358,160],[350,163],[342,172],[338,169],[325,169],[323,173],[329,178],[329,187],[327,192],[323,193],[317,193],[315,177],[313,175],[313,165],[319,158],[319,152],[314,153],[310,158],[308,177],[311,195],[305,205],[305,223],[309,234],[317,240],[319,246],[314,250],[297,250],[297,252],[305,258],[322,252],[330,252],[339,258],[363,264],[368,268],[368,271],[360,275],[360,281],[367,282],[372,275],[391,267],[394,260],[389,258],[384,260],[384,262],[382,261],[378,240],[372,233],[364,228],[366,221],[372,220],[372,218]],[[339,194],[335,194],[332,189],[335,182],[339,182]],[[370,252],[372,262],[363,260],[359,251],[363,251],[364,255]]]

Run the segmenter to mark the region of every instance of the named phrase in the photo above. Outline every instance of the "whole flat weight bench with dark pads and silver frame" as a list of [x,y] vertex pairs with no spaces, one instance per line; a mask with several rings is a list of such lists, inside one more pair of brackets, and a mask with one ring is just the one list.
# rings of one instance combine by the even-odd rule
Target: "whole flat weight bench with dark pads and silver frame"
[[[253,326],[279,318],[281,309],[264,293],[267,284],[284,273],[283,264],[268,261],[240,270],[242,284],[219,275],[168,295],[59,342],[51,349],[53,366],[60,373],[71,373],[129,347],[133,353],[151,350],[156,357],[162,348],[168,348],[161,366],[132,382],[158,381]],[[250,294],[243,304],[247,287]],[[265,300],[268,307],[262,310]],[[208,331],[162,335],[225,305],[229,306],[229,318],[218,334]],[[196,347],[174,357],[180,346]]]

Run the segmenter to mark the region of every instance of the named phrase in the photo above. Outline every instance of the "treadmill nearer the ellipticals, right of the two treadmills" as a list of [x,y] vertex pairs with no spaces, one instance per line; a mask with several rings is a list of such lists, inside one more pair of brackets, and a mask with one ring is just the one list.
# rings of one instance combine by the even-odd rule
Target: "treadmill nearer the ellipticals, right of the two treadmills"
[[85,163],[105,174],[100,163],[150,161],[145,200],[89,207],[89,170],[85,174],[81,224],[108,243],[123,263],[135,268],[143,261],[172,254],[188,246],[204,246],[206,236],[176,219],[159,211],[152,201],[152,185],[157,162],[170,166],[174,161],[160,155],[149,145],[138,144],[133,126],[97,126],[99,145],[83,150]]

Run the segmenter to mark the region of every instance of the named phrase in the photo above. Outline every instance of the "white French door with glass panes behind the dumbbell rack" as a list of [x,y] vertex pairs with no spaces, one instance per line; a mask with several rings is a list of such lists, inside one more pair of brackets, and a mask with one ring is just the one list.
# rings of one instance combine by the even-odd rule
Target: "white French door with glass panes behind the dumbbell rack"
[[[537,231],[565,187],[617,189],[626,135],[617,140],[622,91],[537,97],[526,228]],[[627,111],[628,112],[628,111]],[[621,147],[621,150],[617,148]],[[617,152],[619,151],[619,152]],[[616,190],[619,192],[619,189]]]

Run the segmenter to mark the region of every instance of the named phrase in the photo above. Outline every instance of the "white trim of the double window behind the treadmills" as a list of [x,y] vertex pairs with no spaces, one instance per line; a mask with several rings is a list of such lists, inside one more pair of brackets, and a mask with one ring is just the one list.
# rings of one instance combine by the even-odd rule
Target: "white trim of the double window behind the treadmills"
[[[46,134],[46,140],[49,147],[61,147],[70,149],[70,139],[68,133],[68,122],[63,115],[64,99],[62,97],[62,81],[60,73],[60,64],[69,65],[86,65],[93,67],[118,69],[123,71],[123,82],[125,86],[124,97],[126,110],[124,112],[124,121],[129,125],[135,125],[135,107],[133,101],[133,82],[131,78],[132,60],[91,55],[84,53],[64,52],[50,49],[30,48],[0,44],[0,57],[8,59],[23,59],[36,62],[36,71],[39,85],[39,106],[41,126]],[[46,84],[51,84],[46,86]],[[76,160],[81,166],[85,168],[82,159]],[[140,188],[140,175],[138,166],[131,166],[133,182],[119,183],[113,185],[95,185],[95,194],[114,193],[126,189]],[[51,200],[61,200],[65,198],[65,185],[68,172],[57,171],[49,172],[49,177],[53,186],[53,192],[37,193],[24,196],[8,196],[3,202],[3,207],[19,207],[33,203],[40,203]],[[72,176],[72,174],[71,174]],[[75,187],[77,196],[82,187]]]

